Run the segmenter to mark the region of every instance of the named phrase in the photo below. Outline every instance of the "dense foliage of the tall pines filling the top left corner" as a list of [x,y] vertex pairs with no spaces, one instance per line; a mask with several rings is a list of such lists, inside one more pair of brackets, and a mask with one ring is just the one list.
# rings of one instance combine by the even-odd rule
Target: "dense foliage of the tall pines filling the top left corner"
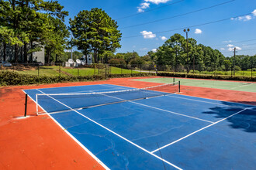
[[[18,46],[24,46],[23,62],[29,53],[40,51],[43,45],[46,48],[51,45],[57,54],[63,52],[63,35],[67,35],[67,31],[61,29],[64,24],[60,22],[68,15],[63,8],[57,1],[0,0],[0,39],[15,46],[15,62],[18,62]],[[30,49],[27,48],[29,42]]]

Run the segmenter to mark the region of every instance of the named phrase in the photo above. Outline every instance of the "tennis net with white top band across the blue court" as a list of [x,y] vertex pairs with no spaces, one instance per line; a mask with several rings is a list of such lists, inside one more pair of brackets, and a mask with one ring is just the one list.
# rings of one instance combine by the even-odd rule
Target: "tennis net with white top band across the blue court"
[[92,93],[36,93],[36,112],[39,106],[48,114],[81,110],[89,107],[99,107],[107,104],[117,104],[130,100],[141,100],[150,97],[159,97],[170,93],[178,93],[180,83],[168,83],[154,87],[129,89],[119,91],[92,92]]

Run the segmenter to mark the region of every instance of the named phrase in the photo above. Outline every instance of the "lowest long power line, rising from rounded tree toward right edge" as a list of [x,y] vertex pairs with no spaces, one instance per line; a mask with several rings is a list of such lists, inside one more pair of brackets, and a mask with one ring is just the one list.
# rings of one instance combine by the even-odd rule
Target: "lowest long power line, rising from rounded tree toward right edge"
[[[247,13],[247,14],[244,14],[244,15],[251,15],[251,13]],[[198,27],[198,26],[206,26],[206,25],[209,25],[209,24],[213,24],[213,23],[216,23],[216,22],[227,21],[227,20],[230,20],[231,18],[237,18],[237,17],[244,16],[244,15],[237,15],[237,16],[230,17],[230,18],[227,18],[227,19],[220,19],[220,20],[216,20],[216,21],[213,21],[213,22],[206,22],[206,23],[202,23],[202,24],[198,24],[198,25],[194,25],[194,26],[184,26],[184,27],[178,28],[178,29],[169,29],[169,30],[166,30],[166,31],[154,32],[154,33],[173,32],[173,31],[178,31],[178,30],[187,29],[187,28],[193,28],[193,27]],[[126,36],[126,37],[123,37],[123,39],[135,38],[135,37],[139,37],[139,36],[141,36],[141,35]]]

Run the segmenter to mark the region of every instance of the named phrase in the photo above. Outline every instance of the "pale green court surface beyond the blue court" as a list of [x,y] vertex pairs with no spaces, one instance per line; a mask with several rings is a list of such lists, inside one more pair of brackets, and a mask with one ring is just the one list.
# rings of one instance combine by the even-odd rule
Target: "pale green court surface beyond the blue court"
[[[150,79],[138,79],[136,81],[144,82],[154,82],[154,83],[168,83],[171,82],[173,78],[150,78]],[[184,86],[192,87],[207,87],[223,90],[237,90],[245,92],[256,93],[256,83],[252,82],[235,82],[235,81],[223,81],[223,80],[199,80],[199,79],[184,79],[175,78],[175,81],[181,81]]]

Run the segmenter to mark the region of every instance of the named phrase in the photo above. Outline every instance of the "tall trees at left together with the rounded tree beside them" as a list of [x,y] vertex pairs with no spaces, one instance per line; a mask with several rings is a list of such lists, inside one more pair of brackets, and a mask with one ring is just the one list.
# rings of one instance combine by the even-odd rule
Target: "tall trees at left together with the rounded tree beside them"
[[[85,55],[114,53],[120,47],[121,33],[114,21],[100,8],[83,10],[64,24],[68,12],[57,1],[0,0],[0,41],[3,60],[7,46],[14,49],[13,62],[33,62],[33,52],[45,49],[45,60],[61,62],[65,49],[77,46]],[[68,39],[71,34],[74,39]],[[20,59],[21,58],[21,59]]]

